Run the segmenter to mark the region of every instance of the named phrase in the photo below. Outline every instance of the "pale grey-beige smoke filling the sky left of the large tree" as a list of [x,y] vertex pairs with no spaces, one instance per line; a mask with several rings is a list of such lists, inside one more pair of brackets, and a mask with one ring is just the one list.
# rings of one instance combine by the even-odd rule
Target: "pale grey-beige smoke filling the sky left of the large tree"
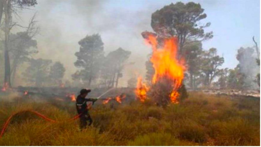
[[[110,9],[108,9],[108,5]],[[79,51],[78,42],[87,34],[99,33],[104,42],[105,55],[119,47],[132,52],[119,86],[126,86],[127,80],[133,75],[145,74],[146,56],[150,52],[144,45],[140,33],[151,30],[150,16],[155,10],[144,7],[136,12],[129,12],[124,7],[113,6],[110,1],[38,1],[32,10],[21,11],[22,20],[27,20],[37,11],[40,33],[36,36],[39,53],[35,58],[60,61],[66,68],[65,80],[71,80],[76,71],[73,63],[74,53]],[[134,73],[135,71],[135,73]]]

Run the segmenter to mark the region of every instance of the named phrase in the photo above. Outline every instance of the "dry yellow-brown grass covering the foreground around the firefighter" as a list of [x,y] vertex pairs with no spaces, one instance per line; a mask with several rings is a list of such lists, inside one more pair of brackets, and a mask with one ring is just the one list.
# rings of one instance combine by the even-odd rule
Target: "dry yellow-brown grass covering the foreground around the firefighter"
[[0,146],[259,146],[260,100],[190,93],[166,108],[152,102],[96,105],[92,126],[79,130],[74,102],[0,98],[0,125],[13,117]]

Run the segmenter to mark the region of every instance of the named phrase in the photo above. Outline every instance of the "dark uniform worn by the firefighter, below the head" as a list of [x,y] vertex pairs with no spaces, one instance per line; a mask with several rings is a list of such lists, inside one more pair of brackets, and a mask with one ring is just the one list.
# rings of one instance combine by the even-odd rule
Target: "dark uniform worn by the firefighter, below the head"
[[90,114],[88,113],[87,103],[86,102],[95,102],[95,99],[86,99],[82,98],[79,95],[76,99],[76,109],[78,114],[80,115],[80,128],[85,128],[87,125],[87,121],[89,121],[89,125],[92,123],[92,119]]

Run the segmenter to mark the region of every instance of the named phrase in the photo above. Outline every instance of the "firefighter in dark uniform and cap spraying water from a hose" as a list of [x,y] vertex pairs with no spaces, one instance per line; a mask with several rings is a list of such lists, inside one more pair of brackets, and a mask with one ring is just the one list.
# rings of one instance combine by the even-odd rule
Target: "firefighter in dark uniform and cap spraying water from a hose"
[[90,89],[82,89],[80,91],[80,95],[78,95],[76,99],[76,109],[78,114],[80,114],[81,129],[86,128],[87,121],[89,121],[88,125],[91,125],[92,123],[92,119],[90,114],[88,113],[88,107],[86,102],[92,102],[92,104],[94,104],[94,102],[97,100],[97,99],[85,98],[89,92],[91,92]]

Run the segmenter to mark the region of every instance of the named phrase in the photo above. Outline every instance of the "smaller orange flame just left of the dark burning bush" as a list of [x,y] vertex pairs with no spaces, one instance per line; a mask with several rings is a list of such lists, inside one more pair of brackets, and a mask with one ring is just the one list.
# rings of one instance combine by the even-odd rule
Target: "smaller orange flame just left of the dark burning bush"
[[144,102],[145,99],[147,98],[146,97],[147,91],[149,91],[149,87],[142,82],[142,77],[139,76],[137,80],[135,94],[138,97],[138,99],[140,99],[141,102]]

